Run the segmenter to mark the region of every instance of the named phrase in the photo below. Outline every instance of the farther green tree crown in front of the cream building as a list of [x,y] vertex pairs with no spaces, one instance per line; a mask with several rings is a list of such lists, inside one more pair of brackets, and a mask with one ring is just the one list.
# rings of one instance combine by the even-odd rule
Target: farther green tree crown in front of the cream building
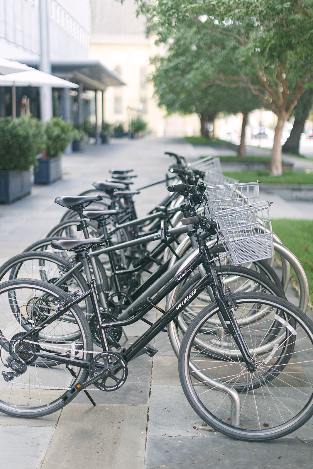
[[[207,83],[207,76],[212,73],[211,55],[216,52],[215,43],[220,52],[221,41],[217,35],[197,20],[192,27],[183,25],[176,31],[166,57],[152,60],[159,105],[165,106],[169,113],[198,113],[202,135],[206,134],[204,123],[214,121],[218,112],[247,114],[260,107],[259,99],[249,88],[224,88]],[[227,63],[228,69],[233,67],[231,61]],[[239,150],[244,156],[244,142]]]

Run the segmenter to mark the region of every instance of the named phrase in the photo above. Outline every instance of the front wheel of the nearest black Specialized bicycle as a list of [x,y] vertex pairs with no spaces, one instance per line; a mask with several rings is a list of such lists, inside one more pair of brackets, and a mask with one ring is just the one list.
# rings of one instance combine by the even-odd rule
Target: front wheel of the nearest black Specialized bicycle
[[[296,306],[273,295],[232,298],[238,306],[236,317],[247,318],[240,330],[256,371],[246,369],[213,303],[184,334],[179,353],[183,391],[216,431],[246,441],[282,437],[313,415],[313,323]],[[261,318],[260,310],[266,312]],[[249,320],[252,311],[258,316],[254,322]]]

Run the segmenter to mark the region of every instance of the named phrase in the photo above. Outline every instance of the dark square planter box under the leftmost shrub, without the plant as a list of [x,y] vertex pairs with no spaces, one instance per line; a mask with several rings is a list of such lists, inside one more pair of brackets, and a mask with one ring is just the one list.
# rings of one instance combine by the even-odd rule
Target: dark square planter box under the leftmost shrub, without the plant
[[0,171],[0,202],[12,204],[31,193],[31,172]]

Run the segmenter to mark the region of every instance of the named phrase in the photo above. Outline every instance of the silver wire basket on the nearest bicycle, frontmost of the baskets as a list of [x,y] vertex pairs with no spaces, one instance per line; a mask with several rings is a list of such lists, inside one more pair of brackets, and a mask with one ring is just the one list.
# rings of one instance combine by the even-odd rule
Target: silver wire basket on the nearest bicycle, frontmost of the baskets
[[260,202],[214,213],[235,265],[274,256],[269,206]]

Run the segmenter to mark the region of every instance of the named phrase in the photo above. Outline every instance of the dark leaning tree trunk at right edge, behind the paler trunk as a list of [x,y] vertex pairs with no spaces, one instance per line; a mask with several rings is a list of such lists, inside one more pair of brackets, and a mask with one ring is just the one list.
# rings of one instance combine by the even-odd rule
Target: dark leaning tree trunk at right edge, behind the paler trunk
[[313,90],[305,90],[295,107],[295,121],[287,138],[285,144],[282,146],[282,151],[290,151],[291,153],[299,154],[300,137],[304,129],[306,118],[312,107]]

